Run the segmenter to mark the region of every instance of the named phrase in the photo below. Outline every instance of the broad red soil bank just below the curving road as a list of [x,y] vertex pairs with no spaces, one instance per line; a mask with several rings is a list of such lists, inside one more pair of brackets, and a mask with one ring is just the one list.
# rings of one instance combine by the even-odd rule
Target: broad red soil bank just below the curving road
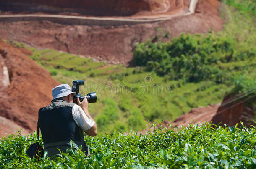
[[[187,1],[184,1],[187,2]],[[137,42],[158,35],[170,41],[183,32],[206,33],[222,29],[217,0],[199,0],[196,13],[154,24],[123,26],[61,25],[49,21],[0,23],[0,38],[24,42],[36,48],[52,48],[111,63],[129,64]],[[162,28],[159,32],[158,28]],[[163,38],[170,30],[170,38]]]

